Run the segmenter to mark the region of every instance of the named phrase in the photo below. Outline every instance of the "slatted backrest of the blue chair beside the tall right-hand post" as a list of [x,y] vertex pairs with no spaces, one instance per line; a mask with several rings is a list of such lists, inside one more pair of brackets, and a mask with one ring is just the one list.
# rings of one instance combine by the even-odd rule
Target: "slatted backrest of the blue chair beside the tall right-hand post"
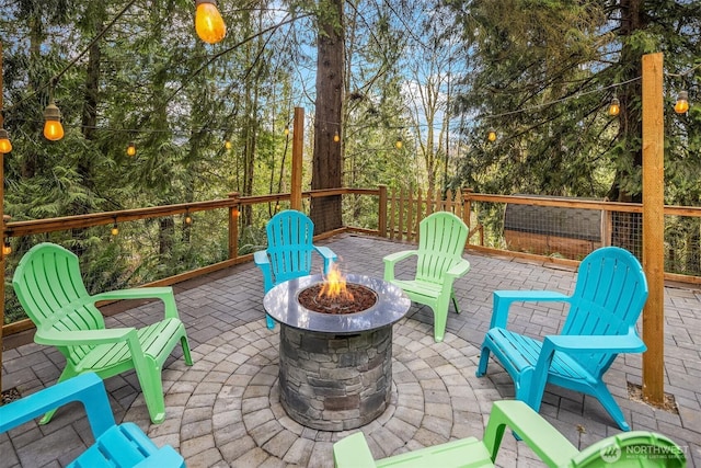
[[[597,249],[579,264],[562,334],[625,335],[634,329],[646,299],[647,281],[637,259],[618,247]],[[600,377],[616,353],[572,357]]]

